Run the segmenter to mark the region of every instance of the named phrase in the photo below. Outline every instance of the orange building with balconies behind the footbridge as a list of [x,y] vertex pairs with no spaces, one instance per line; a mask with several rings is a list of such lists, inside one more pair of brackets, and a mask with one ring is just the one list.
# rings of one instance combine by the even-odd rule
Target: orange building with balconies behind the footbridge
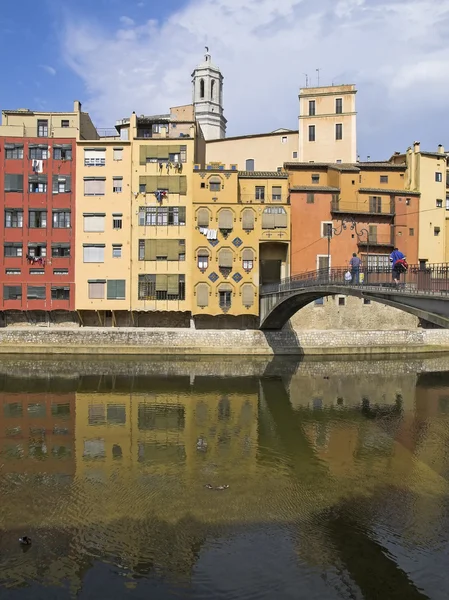
[[420,194],[404,189],[405,164],[284,166],[289,173],[292,275],[328,265],[345,267],[353,252],[372,269],[389,268],[395,246],[409,264],[417,264]]

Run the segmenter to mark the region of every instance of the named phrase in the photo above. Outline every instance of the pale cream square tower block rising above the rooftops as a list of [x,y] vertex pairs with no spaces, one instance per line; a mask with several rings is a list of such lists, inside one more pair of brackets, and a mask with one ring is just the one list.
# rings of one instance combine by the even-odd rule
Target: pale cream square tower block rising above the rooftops
[[302,162],[357,160],[355,85],[301,88],[299,157]]

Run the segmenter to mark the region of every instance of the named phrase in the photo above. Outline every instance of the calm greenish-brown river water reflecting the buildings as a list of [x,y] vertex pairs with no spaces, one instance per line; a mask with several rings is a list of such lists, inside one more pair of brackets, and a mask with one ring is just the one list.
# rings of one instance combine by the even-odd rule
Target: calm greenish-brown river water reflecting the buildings
[[0,597],[447,599],[448,474],[449,357],[4,357]]

